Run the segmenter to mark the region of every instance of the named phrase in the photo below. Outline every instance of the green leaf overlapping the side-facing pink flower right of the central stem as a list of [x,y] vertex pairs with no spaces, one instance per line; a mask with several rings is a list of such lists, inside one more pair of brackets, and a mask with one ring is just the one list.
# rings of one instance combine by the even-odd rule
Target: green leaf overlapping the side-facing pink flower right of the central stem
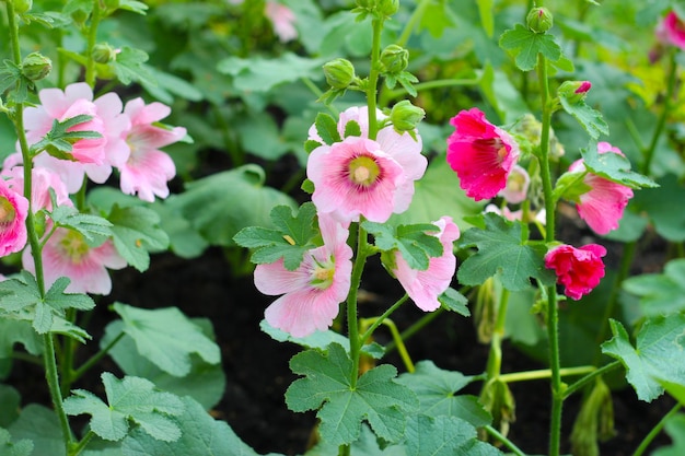
[[425,271],[431,257],[442,255],[442,243],[437,236],[439,229],[430,223],[399,225],[364,221],[362,226],[375,237],[375,246],[383,252],[399,250],[411,269]]

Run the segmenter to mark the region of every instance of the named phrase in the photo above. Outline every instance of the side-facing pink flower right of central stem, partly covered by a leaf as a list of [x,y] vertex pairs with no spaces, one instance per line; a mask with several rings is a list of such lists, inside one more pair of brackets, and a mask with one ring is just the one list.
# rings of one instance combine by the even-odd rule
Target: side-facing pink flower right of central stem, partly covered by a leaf
[[414,303],[426,312],[432,312],[440,307],[438,296],[442,294],[452,282],[454,270],[456,269],[456,258],[452,243],[460,236],[458,226],[450,217],[443,217],[437,222],[432,222],[440,229],[434,236],[442,244],[442,256],[432,257],[429,260],[428,269],[419,271],[411,269],[402,254],[395,252],[395,268],[393,273],[402,283]]

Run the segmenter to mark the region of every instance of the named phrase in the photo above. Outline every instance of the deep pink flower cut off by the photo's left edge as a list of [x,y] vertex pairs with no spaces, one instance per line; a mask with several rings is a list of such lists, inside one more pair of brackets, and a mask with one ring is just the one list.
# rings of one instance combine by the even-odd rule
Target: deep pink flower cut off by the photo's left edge
[[21,250],[26,245],[28,200],[0,178],[0,257]]

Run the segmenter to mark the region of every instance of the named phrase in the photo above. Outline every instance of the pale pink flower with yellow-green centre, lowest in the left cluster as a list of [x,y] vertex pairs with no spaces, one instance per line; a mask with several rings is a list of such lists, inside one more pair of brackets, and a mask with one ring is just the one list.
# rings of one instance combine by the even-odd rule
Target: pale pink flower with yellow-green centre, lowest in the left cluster
[[[35,273],[31,248],[22,256],[24,269]],[[58,278],[68,277],[71,283],[67,293],[109,294],[112,279],[109,269],[121,269],[126,260],[114,248],[112,241],[98,247],[91,247],[82,234],[73,230],[58,227],[43,248],[45,282],[50,287]]]

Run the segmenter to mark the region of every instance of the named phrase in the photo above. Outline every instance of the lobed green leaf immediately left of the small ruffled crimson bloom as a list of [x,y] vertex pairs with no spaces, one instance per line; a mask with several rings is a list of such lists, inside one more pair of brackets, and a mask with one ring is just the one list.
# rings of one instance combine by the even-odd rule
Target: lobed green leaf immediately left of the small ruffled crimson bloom
[[544,284],[552,284],[556,277],[545,269],[546,249],[542,245],[523,243],[524,226],[503,218],[486,213],[485,229],[472,227],[462,234],[458,248],[477,247],[478,252],[468,257],[457,271],[457,279],[464,285],[479,285],[499,273],[507,290],[519,291],[530,287],[530,278]]

